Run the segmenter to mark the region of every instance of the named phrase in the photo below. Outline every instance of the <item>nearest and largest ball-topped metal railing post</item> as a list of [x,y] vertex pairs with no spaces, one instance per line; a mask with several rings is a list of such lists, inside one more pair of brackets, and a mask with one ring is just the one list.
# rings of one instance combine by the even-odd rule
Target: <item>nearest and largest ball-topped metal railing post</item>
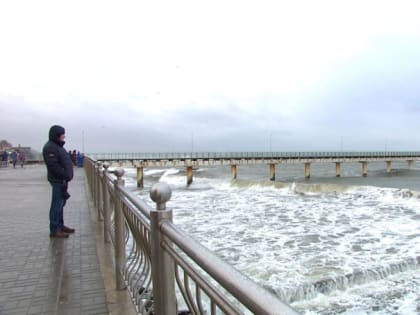
[[172,210],[166,209],[171,198],[171,188],[166,183],[157,183],[150,190],[150,197],[156,202],[156,210],[150,211],[152,246],[153,303],[155,314],[177,314],[175,296],[175,265],[162,247],[162,243],[172,246],[172,242],[161,232],[163,221],[172,222]]

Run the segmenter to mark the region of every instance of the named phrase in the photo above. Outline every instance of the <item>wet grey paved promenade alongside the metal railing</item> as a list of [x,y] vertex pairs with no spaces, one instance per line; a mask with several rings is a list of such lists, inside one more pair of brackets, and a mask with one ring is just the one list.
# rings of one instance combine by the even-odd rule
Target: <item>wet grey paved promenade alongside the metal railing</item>
[[[131,313],[118,306],[118,294],[126,293],[114,293],[113,275],[101,273],[112,269],[110,253],[99,240],[97,247],[101,232],[91,220],[82,169],[75,169],[69,192],[64,221],[76,233],[50,239],[45,167],[0,169],[1,315]],[[105,264],[98,250],[108,256]]]

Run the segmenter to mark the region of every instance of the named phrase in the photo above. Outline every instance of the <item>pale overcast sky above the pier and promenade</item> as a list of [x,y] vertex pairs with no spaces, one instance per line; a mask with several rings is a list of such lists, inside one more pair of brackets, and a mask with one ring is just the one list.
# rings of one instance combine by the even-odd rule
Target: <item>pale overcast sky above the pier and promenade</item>
[[0,3],[15,145],[420,150],[419,118],[420,1]]

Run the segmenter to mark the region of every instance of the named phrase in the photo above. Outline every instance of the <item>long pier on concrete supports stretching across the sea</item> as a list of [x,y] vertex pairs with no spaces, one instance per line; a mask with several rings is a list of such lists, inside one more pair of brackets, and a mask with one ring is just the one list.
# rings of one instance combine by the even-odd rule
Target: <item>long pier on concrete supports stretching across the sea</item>
[[232,179],[238,178],[238,166],[268,165],[269,179],[276,180],[276,166],[302,164],[305,178],[311,177],[313,163],[335,165],[335,174],[341,177],[344,163],[360,163],[361,175],[368,176],[370,162],[384,162],[384,169],[392,171],[393,162],[406,161],[412,168],[420,160],[420,152],[197,152],[197,153],[97,153],[97,160],[110,161],[123,166],[130,163],[137,168],[137,187],[143,187],[143,169],[146,167],[185,167],[186,183],[193,182],[194,168],[201,166],[230,166]]

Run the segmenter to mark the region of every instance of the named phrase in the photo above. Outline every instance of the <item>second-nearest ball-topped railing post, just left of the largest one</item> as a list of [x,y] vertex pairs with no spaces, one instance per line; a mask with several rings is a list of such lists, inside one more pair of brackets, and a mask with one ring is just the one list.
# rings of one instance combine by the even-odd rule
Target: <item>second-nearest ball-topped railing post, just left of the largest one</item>
[[114,181],[114,220],[115,220],[115,276],[117,290],[126,288],[124,281],[125,269],[125,239],[124,239],[124,214],[122,212],[122,201],[120,197],[119,186],[124,186],[124,169],[117,168],[114,171],[117,179]]

